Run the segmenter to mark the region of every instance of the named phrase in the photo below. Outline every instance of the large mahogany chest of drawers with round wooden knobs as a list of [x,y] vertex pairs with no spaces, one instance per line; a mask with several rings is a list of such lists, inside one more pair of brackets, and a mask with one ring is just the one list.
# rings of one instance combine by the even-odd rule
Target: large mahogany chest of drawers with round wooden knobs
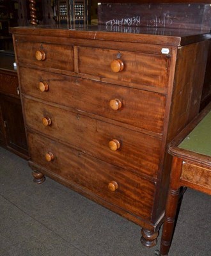
[[142,227],[157,243],[167,145],[200,106],[210,33],[12,28],[35,182],[44,175]]

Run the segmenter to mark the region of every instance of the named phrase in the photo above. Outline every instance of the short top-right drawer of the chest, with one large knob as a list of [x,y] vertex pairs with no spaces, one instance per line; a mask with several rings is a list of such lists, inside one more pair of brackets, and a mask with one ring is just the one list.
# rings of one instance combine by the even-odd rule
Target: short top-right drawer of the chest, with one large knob
[[113,80],[164,88],[169,57],[140,52],[79,47],[79,72]]

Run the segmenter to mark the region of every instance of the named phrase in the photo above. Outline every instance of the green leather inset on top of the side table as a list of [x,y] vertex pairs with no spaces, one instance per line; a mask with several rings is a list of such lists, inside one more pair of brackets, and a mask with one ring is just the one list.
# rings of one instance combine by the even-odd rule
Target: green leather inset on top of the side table
[[211,111],[196,125],[178,147],[205,156],[211,156]]

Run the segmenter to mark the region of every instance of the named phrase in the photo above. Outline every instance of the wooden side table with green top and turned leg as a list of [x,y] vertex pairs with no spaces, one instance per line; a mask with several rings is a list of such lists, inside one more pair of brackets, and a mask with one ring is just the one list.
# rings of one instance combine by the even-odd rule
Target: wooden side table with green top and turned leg
[[173,156],[160,256],[168,255],[182,187],[211,195],[211,102],[171,141]]

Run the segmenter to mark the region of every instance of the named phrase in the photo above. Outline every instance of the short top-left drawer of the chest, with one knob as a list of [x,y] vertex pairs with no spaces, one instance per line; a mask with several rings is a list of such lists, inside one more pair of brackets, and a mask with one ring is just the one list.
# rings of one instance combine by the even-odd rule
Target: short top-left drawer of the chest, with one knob
[[18,40],[16,42],[16,50],[19,63],[35,65],[40,68],[74,70],[72,45],[22,42]]

